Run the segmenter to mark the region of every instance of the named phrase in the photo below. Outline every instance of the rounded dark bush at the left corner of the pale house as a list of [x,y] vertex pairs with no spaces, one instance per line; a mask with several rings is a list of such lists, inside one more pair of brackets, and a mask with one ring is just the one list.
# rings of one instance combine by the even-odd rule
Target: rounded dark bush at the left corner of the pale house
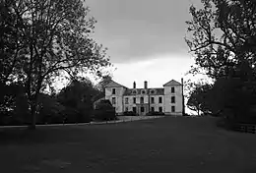
[[111,105],[109,100],[101,100],[96,104],[94,119],[103,121],[117,119],[115,108]]

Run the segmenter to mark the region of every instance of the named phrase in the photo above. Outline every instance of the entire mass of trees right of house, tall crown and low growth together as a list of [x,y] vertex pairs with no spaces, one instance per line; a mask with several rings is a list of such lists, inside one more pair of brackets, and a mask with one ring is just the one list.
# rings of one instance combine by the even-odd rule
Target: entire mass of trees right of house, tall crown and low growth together
[[256,123],[256,1],[204,0],[190,7],[186,42],[195,57],[191,74],[214,84],[195,84],[188,107],[226,123]]

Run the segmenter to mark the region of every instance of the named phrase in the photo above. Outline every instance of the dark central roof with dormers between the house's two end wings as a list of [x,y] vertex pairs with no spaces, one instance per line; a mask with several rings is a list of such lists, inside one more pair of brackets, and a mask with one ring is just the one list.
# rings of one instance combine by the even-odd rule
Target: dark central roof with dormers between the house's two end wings
[[[133,91],[136,90],[134,93]],[[145,90],[145,94],[150,94],[150,95],[163,95],[164,90],[163,88],[127,88],[124,92],[124,95],[136,95],[136,94],[141,94],[142,90]]]

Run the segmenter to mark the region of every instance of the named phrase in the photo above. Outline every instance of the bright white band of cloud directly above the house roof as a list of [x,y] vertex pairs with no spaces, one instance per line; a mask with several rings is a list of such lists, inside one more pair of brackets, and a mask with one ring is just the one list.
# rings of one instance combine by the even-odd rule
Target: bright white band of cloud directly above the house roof
[[180,81],[184,78],[193,63],[193,59],[174,54],[158,55],[126,64],[115,63],[117,70],[113,80],[126,87],[132,87],[134,81],[138,87],[143,87],[144,81],[149,82],[149,87],[162,87],[172,79]]

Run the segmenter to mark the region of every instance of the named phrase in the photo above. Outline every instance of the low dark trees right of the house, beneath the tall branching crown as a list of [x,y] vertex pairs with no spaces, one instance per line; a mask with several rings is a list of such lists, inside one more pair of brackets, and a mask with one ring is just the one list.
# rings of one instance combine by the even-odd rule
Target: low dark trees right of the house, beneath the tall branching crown
[[256,81],[221,78],[213,85],[197,84],[187,106],[198,115],[223,117],[226,123],[256,124]]

